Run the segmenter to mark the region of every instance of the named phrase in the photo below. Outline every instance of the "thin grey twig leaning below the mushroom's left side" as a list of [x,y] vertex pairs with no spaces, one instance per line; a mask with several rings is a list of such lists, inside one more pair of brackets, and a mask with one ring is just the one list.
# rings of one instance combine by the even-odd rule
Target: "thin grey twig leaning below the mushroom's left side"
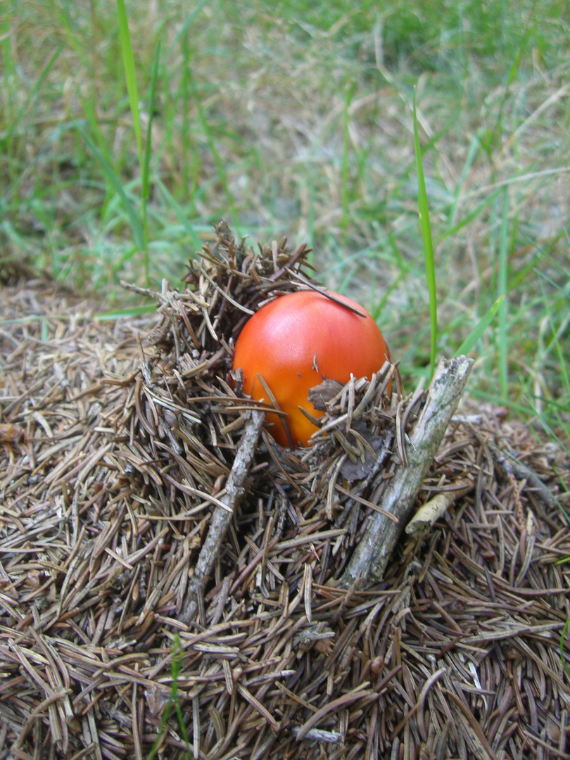
[[[252,467],[255,451],[258,447],[259,435],[265,419],[264,412],[257,410],[246,412],[246,415],[249,419],[245,423],[245,430],[236,451],[236,458],[233,461],[232,470],[226,481],[226,492],[220,499],[226,506],[218,506],[214,509],[206,540],[200,549],[198,561],[196,562],[194,575],[192,575],[192,579],[188,583],[188,596],[184,600],[179,615],[179,620],[184,623],[193,620],[201,606],[207,578],[211,575],[214,562],[216,562],[226,535],[226,530],[230,527],[230,522],[233,519],[236,508],[245,494],[245,479],[248,477],[249,470]],[[205,625],[205,622],[205,620],[201,620],[202,625]]]

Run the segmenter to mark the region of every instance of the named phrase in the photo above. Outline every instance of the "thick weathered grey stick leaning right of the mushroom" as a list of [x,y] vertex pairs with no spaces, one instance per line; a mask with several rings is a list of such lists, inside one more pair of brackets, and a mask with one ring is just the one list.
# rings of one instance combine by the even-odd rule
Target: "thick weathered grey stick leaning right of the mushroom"
[[372,515],[369,526],[356,547],[340,588],[366,588],[382,580],[386,565],[402,530],[410,519],[416,496],[432,464],[451,416],[458,407],[461,393],[473,365],[473,359],[458,356],[442,359],[429,385],[426,404],[410,434],[408,464],[397,465],[394,477],[385,489],[378,506],[397,517],[397,523],[379,512]]

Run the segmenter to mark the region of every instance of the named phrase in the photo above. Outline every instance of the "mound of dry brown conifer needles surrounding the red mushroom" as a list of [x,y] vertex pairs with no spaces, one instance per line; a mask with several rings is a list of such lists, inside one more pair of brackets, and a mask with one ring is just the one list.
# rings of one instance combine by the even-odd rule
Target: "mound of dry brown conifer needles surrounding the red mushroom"
[[311,449],[263,432],[232,492],[256,414],[233,340],[309,274],[221,224],[151,320],[3,291],[1,757],[570,756],[551,445],[467,404],[416,498],[451,505],[369,587],[340,580],[425,403],[394,366],[329,394]]

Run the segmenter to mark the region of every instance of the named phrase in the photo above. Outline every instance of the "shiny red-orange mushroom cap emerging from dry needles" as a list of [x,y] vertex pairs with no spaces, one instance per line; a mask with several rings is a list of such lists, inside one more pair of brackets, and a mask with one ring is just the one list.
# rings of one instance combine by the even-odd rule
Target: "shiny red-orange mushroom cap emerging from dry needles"
[[328,295],[300,290],[280,296],[255,312],[236,340],[233,369],[242,369],[243,391],[255,401],[270,401],[261,375],[287,413],[284,422],[267,415],[269,431],[282,446],[309,445],[317,430],[299,408],[322,416],[309,401],[311,388],[325,379],[344,385],[350,375],[371,378],[389,360],[369,313],[346,296]]

